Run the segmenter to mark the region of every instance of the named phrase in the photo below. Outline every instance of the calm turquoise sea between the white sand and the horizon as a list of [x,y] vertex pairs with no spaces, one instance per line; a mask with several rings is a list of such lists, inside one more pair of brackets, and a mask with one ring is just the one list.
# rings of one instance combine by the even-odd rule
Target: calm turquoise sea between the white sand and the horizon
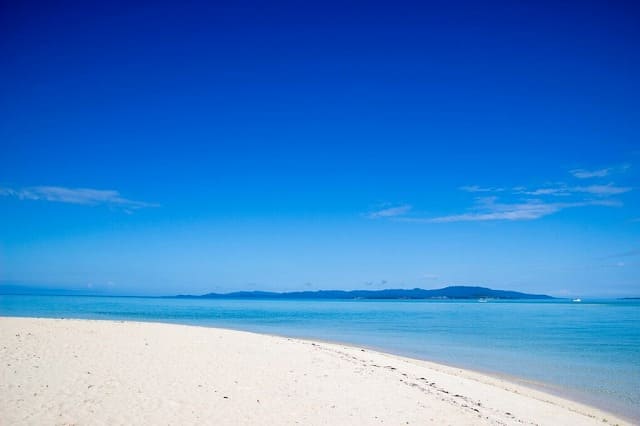
[[0,296],[0,315],[161,321],[346,342],[536,382],[640,420],[640,301]]

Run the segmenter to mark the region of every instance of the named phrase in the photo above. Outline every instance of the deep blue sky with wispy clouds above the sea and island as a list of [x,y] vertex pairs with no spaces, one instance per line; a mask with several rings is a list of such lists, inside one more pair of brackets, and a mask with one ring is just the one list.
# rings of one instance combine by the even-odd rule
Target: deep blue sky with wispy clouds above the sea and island
[[633,2],[88,3],[2,6],[1,282],[640,293]]

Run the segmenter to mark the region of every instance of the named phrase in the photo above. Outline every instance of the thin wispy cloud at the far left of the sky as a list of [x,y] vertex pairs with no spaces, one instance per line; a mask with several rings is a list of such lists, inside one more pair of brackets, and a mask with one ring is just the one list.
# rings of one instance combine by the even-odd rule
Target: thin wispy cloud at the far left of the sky
[[125,211],[143,207],[157,207],[158,204],[130,200],[111,189],[66,188],[62,186],[31,186],[26,188],[0,187],[0,196],[16,197],[20,200],[44,200],[58,203],[82,205],[108,205]]

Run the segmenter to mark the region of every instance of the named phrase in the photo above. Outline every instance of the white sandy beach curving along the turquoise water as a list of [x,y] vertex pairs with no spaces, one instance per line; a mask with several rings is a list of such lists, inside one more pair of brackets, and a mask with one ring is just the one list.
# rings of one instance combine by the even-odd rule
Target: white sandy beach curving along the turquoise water
[[0,424],[628,424],[471,371],[158,323],[0,318]]

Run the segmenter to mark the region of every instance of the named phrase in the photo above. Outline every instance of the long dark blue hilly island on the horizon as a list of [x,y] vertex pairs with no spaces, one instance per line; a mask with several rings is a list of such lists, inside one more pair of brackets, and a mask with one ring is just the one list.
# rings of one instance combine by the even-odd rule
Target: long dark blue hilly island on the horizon
[[493,290],[486,287],[450,286],[436,290],[386,289],[386,290],[318,290],[285,293],[268,291],[238,291],[233,293],[208,293],[200,296],[178,295],[182,299],[554,299],[545,294],[528,294],[518,291]]

